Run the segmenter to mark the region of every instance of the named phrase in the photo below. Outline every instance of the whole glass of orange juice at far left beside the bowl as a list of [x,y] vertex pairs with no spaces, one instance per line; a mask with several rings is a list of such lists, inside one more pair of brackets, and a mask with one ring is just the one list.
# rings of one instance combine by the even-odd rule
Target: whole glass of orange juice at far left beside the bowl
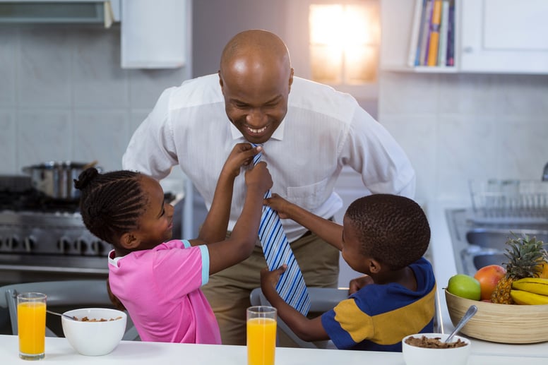
[[46,294],[21,293],[17,296],[19,357],[44,359],[46,341]]

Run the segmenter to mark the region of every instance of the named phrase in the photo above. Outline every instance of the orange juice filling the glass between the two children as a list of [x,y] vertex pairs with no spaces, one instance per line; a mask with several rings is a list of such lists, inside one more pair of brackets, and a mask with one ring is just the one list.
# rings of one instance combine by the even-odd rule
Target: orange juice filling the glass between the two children
[[249,318],[247,320],[247,364],[274,365],[276,348],[276,320]]

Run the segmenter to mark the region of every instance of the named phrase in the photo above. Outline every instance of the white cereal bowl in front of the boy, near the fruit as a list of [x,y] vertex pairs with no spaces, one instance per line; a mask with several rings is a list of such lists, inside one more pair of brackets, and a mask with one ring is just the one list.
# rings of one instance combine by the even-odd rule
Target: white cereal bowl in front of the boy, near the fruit
[[424,365],[424,364],[443,364],[443,365],[466,365],[470,356],[470,340],[458,335],[453,336],[451,342],[460,339],[467,343],[463,347],[453,347],[449,349],[428,349],[407,345],[405,340],[407,337],[420,338],[426,336],[428,338],[439,337],[440,341],[447,338],[448,333],[417,333],[409,335],[402,340],[403,359],[407,365]]

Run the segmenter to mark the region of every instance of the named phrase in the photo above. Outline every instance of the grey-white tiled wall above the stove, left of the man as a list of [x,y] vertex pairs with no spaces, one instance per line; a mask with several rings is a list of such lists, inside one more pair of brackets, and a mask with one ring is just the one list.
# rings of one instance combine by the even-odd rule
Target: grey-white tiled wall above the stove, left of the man
[[2,25],[0,174],[49,160],[120,169],[162,90],[186,78],[186,68],[122,69],[116,26]]

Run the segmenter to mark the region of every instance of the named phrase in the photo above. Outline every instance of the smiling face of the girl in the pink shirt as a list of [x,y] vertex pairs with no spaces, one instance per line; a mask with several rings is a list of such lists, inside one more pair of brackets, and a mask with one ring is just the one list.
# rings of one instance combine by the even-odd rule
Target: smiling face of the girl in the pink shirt
[[165,203],[162,186],[155,179],[143,176],[141,189],[147,202],[138,228],[132,234],[138,240],[139,250],[153,249],[172,238],[174,208]]

